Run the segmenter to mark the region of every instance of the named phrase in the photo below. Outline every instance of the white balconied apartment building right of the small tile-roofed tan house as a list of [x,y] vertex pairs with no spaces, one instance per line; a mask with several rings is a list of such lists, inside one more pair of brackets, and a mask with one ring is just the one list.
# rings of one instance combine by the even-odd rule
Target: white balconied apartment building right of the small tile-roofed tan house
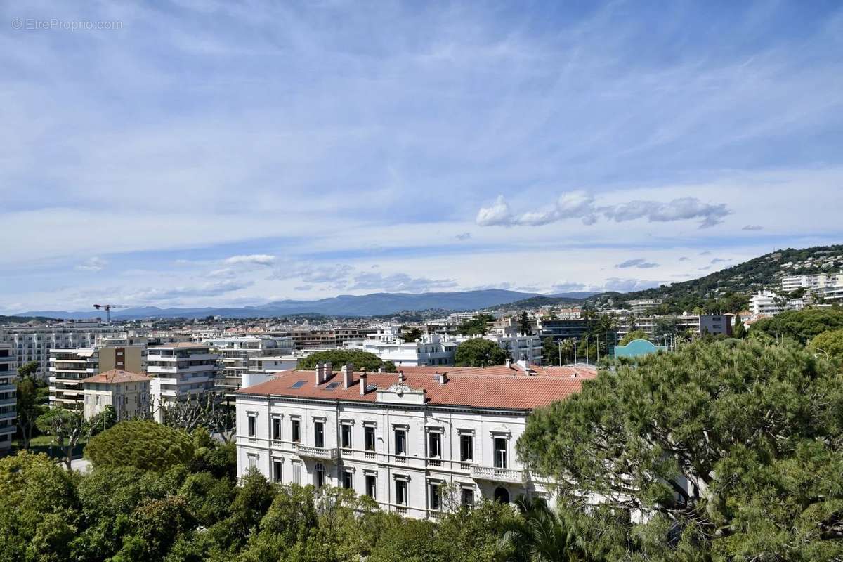
[[155,419],[164,420],[166,404],[214,393],[218,358],[207,344],[180,342],[150,347],[147,373],[153,377],[149,387]]

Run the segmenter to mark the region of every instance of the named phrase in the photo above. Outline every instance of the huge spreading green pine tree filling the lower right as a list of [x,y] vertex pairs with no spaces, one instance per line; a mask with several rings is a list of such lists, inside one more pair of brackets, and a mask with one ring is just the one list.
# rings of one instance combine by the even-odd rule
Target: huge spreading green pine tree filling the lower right
[[[843,556],[843,379],[797,345],[697,341],[537,409],[518,440],[606,559]],[[587,508],[588,495],[604,498]],[[632,514],[643,513],[643,522]]]

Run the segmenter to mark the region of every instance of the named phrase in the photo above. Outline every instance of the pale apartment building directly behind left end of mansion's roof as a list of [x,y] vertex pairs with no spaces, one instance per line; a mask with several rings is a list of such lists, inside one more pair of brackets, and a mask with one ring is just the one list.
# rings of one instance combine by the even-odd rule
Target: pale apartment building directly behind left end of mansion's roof
[[250,368],[250,361],[255,357],[269,355],[287,355],[293,353],[293,338],[269,338],[242,336],[234,338],[215,338],[205,340],[211,351],[219,356],[220,372],[217,375],[217,388],[226,396],[234,398],[234,393],[243,382],[243,373]]

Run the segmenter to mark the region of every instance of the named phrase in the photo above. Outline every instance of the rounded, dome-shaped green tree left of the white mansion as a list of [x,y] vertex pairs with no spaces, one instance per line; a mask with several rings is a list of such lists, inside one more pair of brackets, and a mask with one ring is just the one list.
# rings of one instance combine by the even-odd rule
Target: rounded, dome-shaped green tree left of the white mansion
[[122,421],[91,438],[85,457],[94,467],[135,467],[164,471],[190,463],[194,446],[186,431],[154,421]]

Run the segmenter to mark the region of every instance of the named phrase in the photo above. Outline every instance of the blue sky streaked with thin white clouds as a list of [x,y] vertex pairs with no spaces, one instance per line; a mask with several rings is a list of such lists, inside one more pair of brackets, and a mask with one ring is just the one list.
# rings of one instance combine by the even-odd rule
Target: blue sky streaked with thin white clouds
[[633,290],[843,241],[840,3],[0,12],[0,312]]

